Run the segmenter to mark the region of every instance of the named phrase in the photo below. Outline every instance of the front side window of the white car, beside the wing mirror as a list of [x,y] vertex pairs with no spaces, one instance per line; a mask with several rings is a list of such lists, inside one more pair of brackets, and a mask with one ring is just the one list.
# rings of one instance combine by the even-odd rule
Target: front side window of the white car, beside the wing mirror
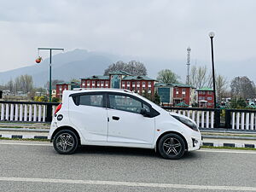
[[109,107],[132,113],[140,113],[142,108],[145,108],[147,111],[150,110],[150,108],[142,102],[130,96],[121,95],[109,95]]

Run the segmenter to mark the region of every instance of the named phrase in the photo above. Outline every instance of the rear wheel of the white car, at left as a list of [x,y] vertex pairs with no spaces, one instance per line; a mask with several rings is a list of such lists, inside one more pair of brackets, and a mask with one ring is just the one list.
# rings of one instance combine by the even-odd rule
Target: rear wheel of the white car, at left
[[59,154],[73,154],[78,148],[78,137],[73,131],[62,130],[54,137],[54,148]]

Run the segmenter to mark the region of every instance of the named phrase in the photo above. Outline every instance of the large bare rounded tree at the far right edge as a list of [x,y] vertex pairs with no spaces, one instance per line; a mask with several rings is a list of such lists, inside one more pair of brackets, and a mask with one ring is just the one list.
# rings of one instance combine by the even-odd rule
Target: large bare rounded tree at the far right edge
[[236,77],[231,81],[231,96],[243,99],[255,97],[255,84],[246,76]]

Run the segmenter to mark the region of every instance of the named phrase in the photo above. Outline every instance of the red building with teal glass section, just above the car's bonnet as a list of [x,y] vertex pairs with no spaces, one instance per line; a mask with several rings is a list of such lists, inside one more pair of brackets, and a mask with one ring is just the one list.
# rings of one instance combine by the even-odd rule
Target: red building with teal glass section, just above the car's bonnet
[[155,89],[164,106],[192,106],[195,103],[195,88],[189,84],[155,84]]

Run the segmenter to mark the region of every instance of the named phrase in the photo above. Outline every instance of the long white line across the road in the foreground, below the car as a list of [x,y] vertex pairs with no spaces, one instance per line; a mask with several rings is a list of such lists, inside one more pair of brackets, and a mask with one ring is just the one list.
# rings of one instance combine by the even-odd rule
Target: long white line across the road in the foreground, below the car
[[30,177],[0,177],[0,181],[32,182],[32,183],[95,184],[95,185],[114,185],[114,186],[127,186],[127,187],[168,188],[168,189],[211,189],[211,190],[232,190],[232,191],[256,191],[256,187],[243,187],[243,186],[138,183],[138,182],[72,180],[72,179],[54,179],[54,178],[30,178]]

